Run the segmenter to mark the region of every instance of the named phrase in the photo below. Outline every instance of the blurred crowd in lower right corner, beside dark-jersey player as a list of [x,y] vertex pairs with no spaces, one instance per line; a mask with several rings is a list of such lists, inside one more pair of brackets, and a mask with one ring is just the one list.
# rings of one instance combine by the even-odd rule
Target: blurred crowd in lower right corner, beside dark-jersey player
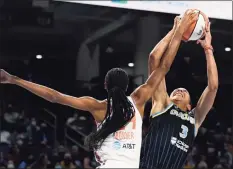
[[233,144],[231,128],[201,127],[192,150],[189,153],[185,168],[197,169],[231,169],[233,167]]

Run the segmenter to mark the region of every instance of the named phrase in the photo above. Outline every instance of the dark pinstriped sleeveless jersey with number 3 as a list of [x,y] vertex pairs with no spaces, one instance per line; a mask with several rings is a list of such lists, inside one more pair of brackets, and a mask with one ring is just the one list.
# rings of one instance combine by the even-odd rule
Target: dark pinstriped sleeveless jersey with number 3
[[193,111],[183,112],[174,104],[151,116],[142,142],[140,168],[180,169],[195,138]]

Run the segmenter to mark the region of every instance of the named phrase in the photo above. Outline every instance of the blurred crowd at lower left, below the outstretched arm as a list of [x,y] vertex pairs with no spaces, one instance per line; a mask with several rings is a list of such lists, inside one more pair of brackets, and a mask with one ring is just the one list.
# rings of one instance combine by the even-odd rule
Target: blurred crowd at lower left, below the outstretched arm
[[91,152],[77,145],[54,143],[54,131],[9,104],[1,112],[0,168],[95,168]]

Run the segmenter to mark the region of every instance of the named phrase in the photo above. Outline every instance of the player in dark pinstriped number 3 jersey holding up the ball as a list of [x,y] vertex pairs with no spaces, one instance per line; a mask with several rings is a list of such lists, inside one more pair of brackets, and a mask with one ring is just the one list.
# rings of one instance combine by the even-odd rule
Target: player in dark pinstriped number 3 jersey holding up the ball
[[[166,53],[174,28],[155,46],[149,56],[149,72],[156,70]],[[165,78],[152,96],[151,124],[142,143],[140,168],[180,169],[197,131],[213,106],[218,89],[218,71],[211,45],[210,24],[204,40],[199,40],[207,62],[208,86],[196,107],[191,109],[189,92],[184,88],[167,94]]]

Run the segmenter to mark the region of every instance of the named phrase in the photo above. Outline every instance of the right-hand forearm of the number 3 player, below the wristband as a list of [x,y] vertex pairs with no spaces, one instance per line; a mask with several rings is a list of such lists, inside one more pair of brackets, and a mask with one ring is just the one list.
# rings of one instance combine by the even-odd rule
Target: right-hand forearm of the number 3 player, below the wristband
[[209,90],[218,89],[218,69],[214,59],[213,51],[205,50],[206,62],[207,62],[207,77]]

